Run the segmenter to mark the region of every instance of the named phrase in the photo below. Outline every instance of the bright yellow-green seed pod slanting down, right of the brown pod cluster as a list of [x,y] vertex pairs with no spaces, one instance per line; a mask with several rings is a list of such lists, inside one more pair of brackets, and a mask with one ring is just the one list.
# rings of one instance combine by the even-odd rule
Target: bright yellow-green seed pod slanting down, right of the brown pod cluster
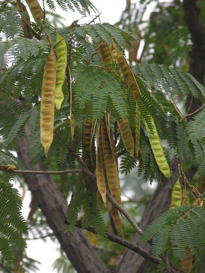
[[[160,139],[157,133],[157,129],[156,126],[154,124],[154,120],[152,119],[152,128],[153,128],[153,132],[154,135],[151,135],[150,137],[150,144],[151,144],[151,148],[155,157],[155,160],[157,162],[157,165],[159,166],[159,170],[162,172],[162,174],[167,177],[170,178],[171,177],[171,172],[170,172],[170,167],[167,163],[166,157],[163,154],[163,149],[160,143]],[[147,125],[147,123],[145,122],[146,125],[146,130],[150,132],[150,129]]]

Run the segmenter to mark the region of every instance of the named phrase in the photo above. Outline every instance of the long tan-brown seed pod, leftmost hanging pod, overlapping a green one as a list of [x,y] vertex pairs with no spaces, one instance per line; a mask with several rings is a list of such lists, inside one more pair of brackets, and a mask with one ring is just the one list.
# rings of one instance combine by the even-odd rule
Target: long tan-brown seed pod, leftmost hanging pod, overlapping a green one
[[40,103],[40,141],[48,153],[53,141],[56,59],[53,48],[46,59]]

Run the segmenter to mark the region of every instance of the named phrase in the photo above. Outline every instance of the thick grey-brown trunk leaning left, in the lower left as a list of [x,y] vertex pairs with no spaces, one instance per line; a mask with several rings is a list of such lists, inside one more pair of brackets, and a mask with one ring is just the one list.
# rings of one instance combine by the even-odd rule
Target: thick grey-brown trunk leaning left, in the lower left
[[[34,171],[37,171],[40,170],[38,165],[32,168],[28,163],[28,136],[29,131],[26,126],[25,137],[17,138],[18,148],[16,149],[16,152],[19,159],[26,164],[28,170],[33,169]],[[110,272],[96,254],[82,230],[75,228],[74,232],[70,236],[64,233],[67,203],[53,177],[48,175],[24,174],[24,179],[36,202],[42,209],[42,213],[46,217],[46,220],[58,239],[60,246],[64,249],[68,259],[71,261],[77,272]]]

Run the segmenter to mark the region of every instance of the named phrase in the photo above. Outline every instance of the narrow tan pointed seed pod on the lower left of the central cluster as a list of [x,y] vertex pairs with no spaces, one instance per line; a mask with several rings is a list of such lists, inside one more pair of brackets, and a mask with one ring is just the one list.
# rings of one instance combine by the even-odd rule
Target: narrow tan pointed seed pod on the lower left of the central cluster
[[99,191],[104,203],[106,203],[106,181],[105,181],[105,176],[104,176],[104,172],[103,172],[103,167],[101,166],[99,147],[97,149],[96,177],[97,177],[98,191]]

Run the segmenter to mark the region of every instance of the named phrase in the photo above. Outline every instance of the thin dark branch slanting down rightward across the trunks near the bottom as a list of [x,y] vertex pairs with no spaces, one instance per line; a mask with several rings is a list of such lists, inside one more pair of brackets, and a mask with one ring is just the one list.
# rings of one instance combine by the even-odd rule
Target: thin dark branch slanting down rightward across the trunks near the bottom
[[[83,222],[78,220],[77,223],[76,223],[76,227],[78,228],[82,228],[83,227]],[[93,227],[89,226],[86,228],[89,232],[92,232],[92,233],[95,233],[95,230]],[[145,259],[155,263],[155,264],[159,264],[161,262],[161,259],[160,258],[157,258],[157,257],[154,257],[152,254],[150,254],[148,251],[142,249],[141,247],[133,244],[133,243],[130,243],[128,242],[127,240],[125,239],[122,239],[110,232],[107,232],[105,235],[104,235],[106,238],[108,238],[110,241],[112,242],[115,242],[117,244],[120,244],[120,245],[123,245],[131,250],[133,250],[134,252],[138,253],[139,255],[141,255],[142,257],[144,257]]]

